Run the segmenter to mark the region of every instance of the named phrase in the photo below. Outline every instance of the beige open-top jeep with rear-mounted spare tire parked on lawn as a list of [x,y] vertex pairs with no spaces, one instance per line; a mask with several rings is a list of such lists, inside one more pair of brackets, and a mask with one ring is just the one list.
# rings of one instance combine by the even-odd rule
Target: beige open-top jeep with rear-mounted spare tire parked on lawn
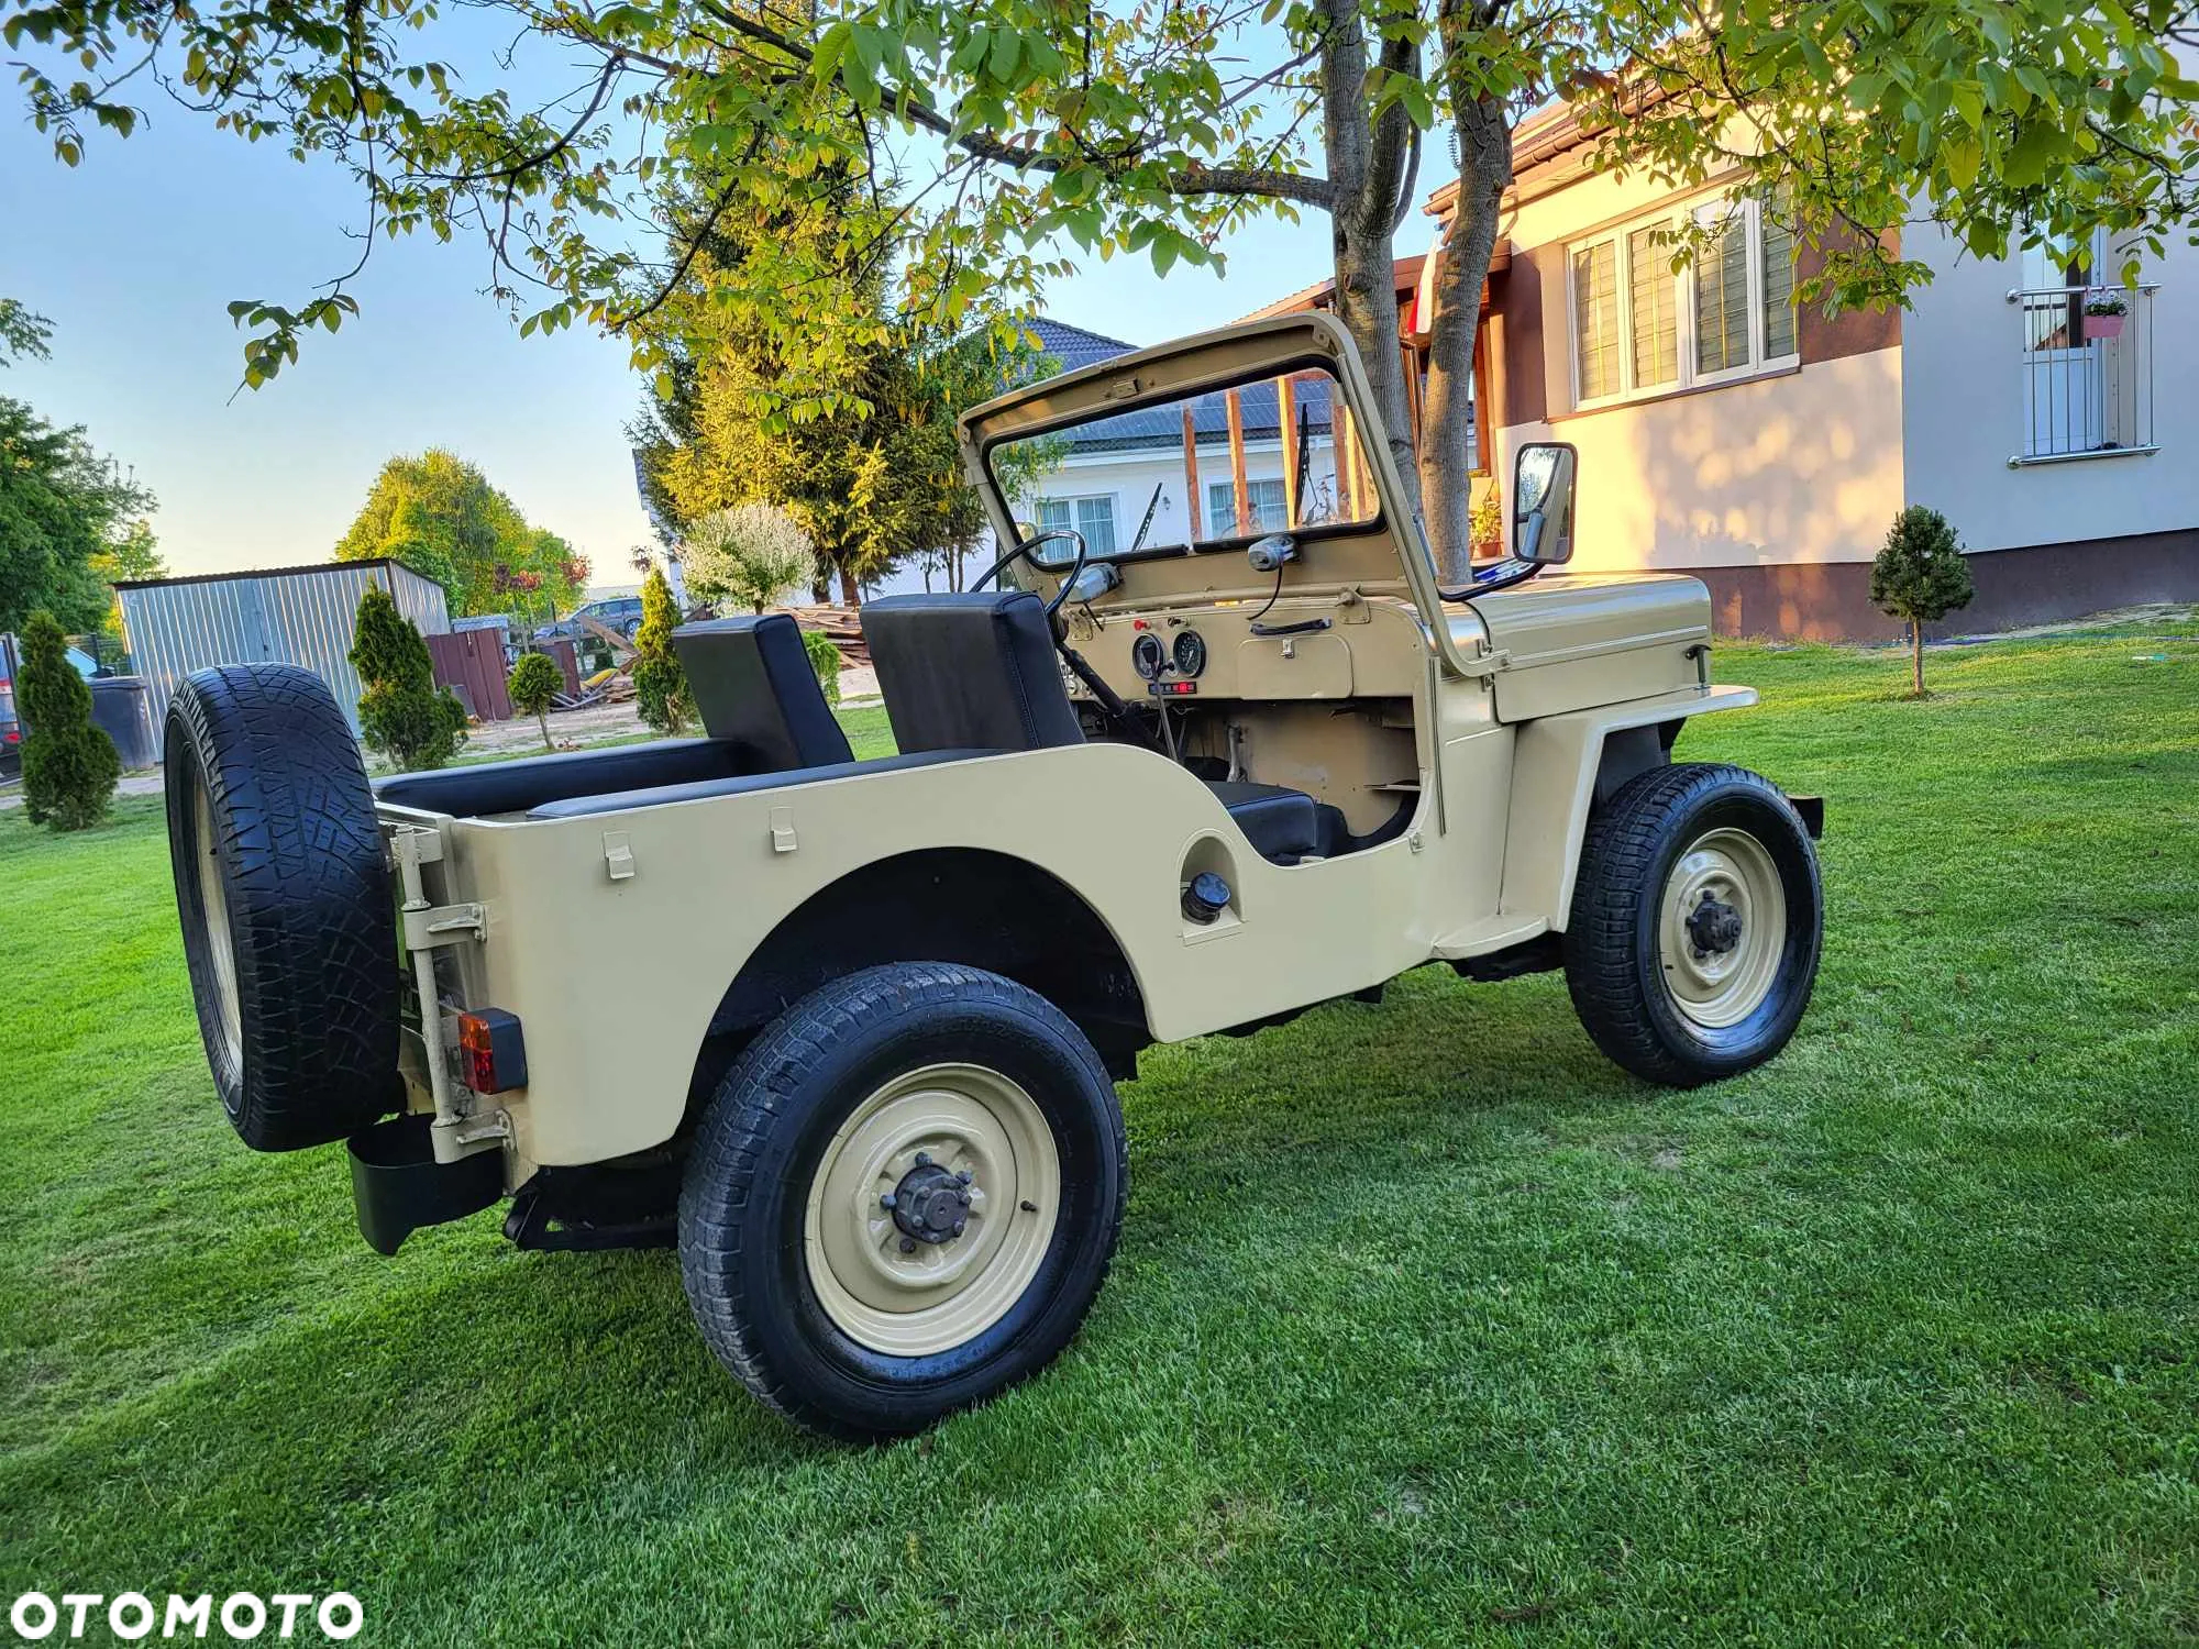
[[176,895],[244,1141],[347,1139],[385,1253],[501,1198],[523,1247],[677,1242],[750,1390],[882,1436],[1069,1343],[1152,1042],[1449,963],[1563,967],[1649,1082],[1786,1044],[1814,807],[1669,761],[1755,701],[1700,583],[1535,576],[1570,449],[1520,453],[1513,554],[1445,589],[1324,317],[961,433],[1005,554],[862,609],[895,756],[851,759],[783,616],[679,631],[701,739],[376,785],[317,677],[191,677]]

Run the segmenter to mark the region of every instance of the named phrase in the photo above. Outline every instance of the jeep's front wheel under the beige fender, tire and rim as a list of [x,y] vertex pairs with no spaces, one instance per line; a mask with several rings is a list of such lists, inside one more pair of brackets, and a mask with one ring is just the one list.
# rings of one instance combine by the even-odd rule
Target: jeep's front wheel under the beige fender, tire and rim
[[1693,1088],[1788,1044],[1823,917],[1810,833],[1777,785],[1744,767],[1656,767],[1590,824],[1566,985],[1605,1055]]

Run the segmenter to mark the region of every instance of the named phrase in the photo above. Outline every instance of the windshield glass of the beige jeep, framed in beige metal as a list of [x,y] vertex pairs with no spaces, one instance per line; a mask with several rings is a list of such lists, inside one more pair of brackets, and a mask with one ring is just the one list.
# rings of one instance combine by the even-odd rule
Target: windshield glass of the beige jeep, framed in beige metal
[[[985,462],[1025,539],[1075,528],[1093,561],[1245,545],[1381,514],[1350,409],[1319,369],[998,442]],[[1067,567],[1075,545],[1045,543],[1038,561]]]

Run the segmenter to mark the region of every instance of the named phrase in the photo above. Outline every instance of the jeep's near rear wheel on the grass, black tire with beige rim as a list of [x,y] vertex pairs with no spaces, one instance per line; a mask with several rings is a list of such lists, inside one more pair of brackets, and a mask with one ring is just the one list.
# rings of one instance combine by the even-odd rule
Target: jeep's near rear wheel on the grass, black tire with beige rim
[[679,1196],[710,1350],[816,1431],[919,1431],[1069,1343],[1121,1229],[1100,1055],[998,974],[869,967],[726,1073]]

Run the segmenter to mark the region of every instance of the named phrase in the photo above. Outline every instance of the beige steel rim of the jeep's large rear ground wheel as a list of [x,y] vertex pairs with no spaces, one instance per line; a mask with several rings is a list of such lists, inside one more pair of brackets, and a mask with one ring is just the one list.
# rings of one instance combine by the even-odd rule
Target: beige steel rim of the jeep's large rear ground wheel
[[[906,1231],[880,1198],[899,1194],[919,1154],[950,1176],[970,1174],[968,1225],[904,1251]],[[1031,1095],[981,1064],[928,1064],[871,1093],[825,1146],[803,1218],[809,1284],[858,1346],[946,1352],[1031,1286],[1060,1200],[1060,1154]]]

